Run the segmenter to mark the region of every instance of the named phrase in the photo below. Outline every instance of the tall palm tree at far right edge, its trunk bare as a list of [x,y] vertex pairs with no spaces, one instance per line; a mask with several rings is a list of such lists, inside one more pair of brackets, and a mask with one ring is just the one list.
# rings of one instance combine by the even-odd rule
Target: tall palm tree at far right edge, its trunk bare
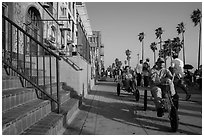
[[200,66],[200,48],[201,48],[201,27],[202,27],[202,23],[201,23],[201,18],[202,18],[202,13],[199,9],[196,9],[193,11],[193,13],[191,14],[191,19],[194,23],[194,26],[197,26],[198,24],[200,25],[200,30],[199,30],[199,48],[198,48],[198,69]]

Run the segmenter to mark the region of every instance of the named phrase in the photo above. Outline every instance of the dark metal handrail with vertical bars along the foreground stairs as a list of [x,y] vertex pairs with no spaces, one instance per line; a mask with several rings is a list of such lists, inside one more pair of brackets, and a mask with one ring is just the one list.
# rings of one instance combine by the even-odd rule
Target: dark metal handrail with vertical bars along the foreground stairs
[[[12,20],[10,20],[9,18],[7,18],[6,16],[2,15],[2,22],[3,22],[3,27],[8,27],[8,30],[4,29],[2,31],[2,40],[3,40],[3,45],[2,47],[4,47],[3,51],[3,58],[2,58],[2,62],[4,63],[5,69],[9,68],[9,72],[14,72],[14,75],[18,75],[20,76],[20,78],[23,78],[23,80],[25,80],[24,84],[26,85],[27,83],[30,83],[36,90],[40,91],[41,93],[43,93],[44,95],[46,95],[50,101],[54,101],[55,103],[57,103],[57,108],[58,108],[58,113],[60,112],[60,99],[59,99],[59,60],[61,60],[61,57],[58,56],[57,54],[55,54],[53,51],[51,51],[49,48],[45,47],[41,42],[39,42],[38,40],[36,40],[33,36],[31,36],[30,34],[28,34],[26,31],[24,31],[21,27],[19,27],[17,24],[15,24]],[[13,32],[17,33],[16,35],[13,35]],[[22,38],[23,38],[23,46],[24,46],[24,50],[22,51],[23,54],[20,53],[20,49],[19,49],[19,45],[20,45],[20,34],[22,34]],[[6,41],[7,40],[7,41]],[[9,41],[10,40],[10,41]],[[29,40],[29,42],[27,41]],[[13,42],[17,41],[17,52],[13,51]],[[37,51],[34,52],[34,55],[36,56],[32,56],[33,51],[31,50],[31,46],[32,46],[32,42],[34,43],[34,45],[37,48]],[[26,43],[29,43],[28,46],[30,46],[30,60],[29,60],[29,74],[26,74]],[[8,50],[6,49],[6,44],[8,46]],[[10,47],[9,47],[10,46]],[[38,66],[38,60],[39,60],[39,56],[38,56],[38,46],[40,46],[42,48],[42,51],[47,52],[49,54],[49,63],[47,63],[50,69],[50,74],[49,74],[49,78],[50,78],[50,95],[49,93],[46,93],[43,88],[40,86],[39,84],[39,66]],[[10,50],[10,51],[9,51]],[[8,54],[9,53],[9,54]],[[19,56],[23,56],[23,60],[20,60]],[[56,81],[57,81],[57,99],[54,99],[54,97],[52,96],[52,66],[51,66],[51,57],[55,57],[56,58]],[[37,62],[37,80],[33,81],[33,78],[35,78],[36,76],[32,76],[32,69],[33,69],[33,60],[36,58],[36,62]],[[17,60],[15,60],[17,59]],[[16,61],[16,62],[15,62]],[[23,61],[24,64],[21,64],[21,61]],[[15,64],[16,63],[16,64]],[[43,83],[44,83],[44,87],[45,87],[45,55],[43,55]],[[20,71],[21,70],[21,71]],[[24,70],[24,71],[23,71]],[[8,73],[8,74],[12,74],[12,73]],[[23,85],[24,85],[23,84]],[[36,93],[37,94],[37,93]]]

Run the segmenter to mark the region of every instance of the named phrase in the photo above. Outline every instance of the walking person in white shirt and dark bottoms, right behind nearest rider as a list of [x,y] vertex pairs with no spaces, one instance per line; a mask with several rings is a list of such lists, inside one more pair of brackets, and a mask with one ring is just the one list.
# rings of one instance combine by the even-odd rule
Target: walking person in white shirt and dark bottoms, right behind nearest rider
[[175,87],[180,87],[185,93],[186,98],[185,100],[189,100],[191,97],[191,94],[188,93],[187,86],[184,82],[184,63],[181,59],[178,58],[178,54],[173,54],[173,60],[171,62],[171,68],[173,70],[174,77],[174,85]]

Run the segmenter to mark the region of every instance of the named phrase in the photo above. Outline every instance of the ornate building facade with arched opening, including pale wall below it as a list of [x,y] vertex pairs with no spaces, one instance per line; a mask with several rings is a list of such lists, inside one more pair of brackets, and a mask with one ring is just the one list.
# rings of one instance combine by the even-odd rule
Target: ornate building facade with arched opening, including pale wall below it
[[[92,30],[85,3],[3,2],[2,14],[37,43],[62,57],[65,61],[60,61],[60,80],[70,84],[78,94],[82,94],[82,91],[87,93],[89,87],[93,86],[88,41]],[[23,33],[12,29],[5,21],[2,25],[2,33],[8,32],[2,40],[2,51],[20,53],[22,56],[25,53],[30,58],[48,54],[36,41],[25,38]]]

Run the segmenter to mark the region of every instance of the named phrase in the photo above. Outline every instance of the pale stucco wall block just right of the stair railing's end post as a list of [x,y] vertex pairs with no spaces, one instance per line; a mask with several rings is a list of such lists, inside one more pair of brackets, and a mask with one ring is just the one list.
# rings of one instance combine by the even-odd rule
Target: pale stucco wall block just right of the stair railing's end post
[[86,96],[88,91],[94,85],[94,79],[91,79],[91,65],[80,56],[70,57],[82,70],[75,70],[65,61],[60,61],[60,81],[72,87],[78,95]]

